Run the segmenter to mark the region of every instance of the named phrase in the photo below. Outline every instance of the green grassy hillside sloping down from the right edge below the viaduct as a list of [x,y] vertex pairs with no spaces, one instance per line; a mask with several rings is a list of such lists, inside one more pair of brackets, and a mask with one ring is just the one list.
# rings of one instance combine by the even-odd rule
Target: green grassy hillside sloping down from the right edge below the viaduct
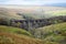
[[35,37],[44,40],[47,44],[66,44],[66,22],[38,28],[33,31]]

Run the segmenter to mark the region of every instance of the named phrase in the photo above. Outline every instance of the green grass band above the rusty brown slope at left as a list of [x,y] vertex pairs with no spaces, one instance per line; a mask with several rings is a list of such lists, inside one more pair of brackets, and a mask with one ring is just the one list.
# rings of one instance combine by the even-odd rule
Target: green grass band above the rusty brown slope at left
[[12,26],[0,25],[0,32],[16,33],[16,34],[24,34],[31,36],[31,33],[29,33],[28,31]]

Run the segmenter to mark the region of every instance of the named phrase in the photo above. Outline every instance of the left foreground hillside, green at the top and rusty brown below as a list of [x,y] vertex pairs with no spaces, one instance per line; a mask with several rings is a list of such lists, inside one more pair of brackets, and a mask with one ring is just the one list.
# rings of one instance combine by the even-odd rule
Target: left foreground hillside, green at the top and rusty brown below
[[24,30],[0,25],[0,44],[43,44]]

